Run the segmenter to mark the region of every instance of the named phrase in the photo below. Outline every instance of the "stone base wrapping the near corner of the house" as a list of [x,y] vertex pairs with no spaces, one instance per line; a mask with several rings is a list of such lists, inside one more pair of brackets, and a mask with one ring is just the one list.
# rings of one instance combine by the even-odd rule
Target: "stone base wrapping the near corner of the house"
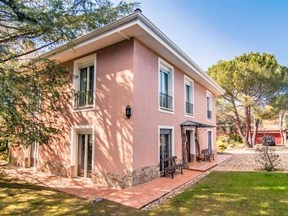
[[106,173],[104,171],[93,171],[92,181],[96,184],[106,185],[108,187],[125,188],[141,185],[160,175],[159,164],[143,166],[134,170],[125,169],[123,174]]

